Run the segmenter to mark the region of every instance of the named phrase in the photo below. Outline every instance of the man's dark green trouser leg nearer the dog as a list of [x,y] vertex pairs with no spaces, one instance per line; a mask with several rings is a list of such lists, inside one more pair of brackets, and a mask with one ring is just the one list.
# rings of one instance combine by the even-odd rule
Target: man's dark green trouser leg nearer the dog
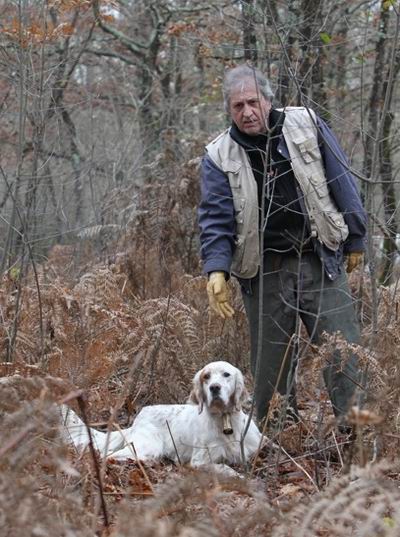
[[[297,412],[293,378],[295,346],[290,345],[296,327],[295,287],[293,275],[282,267],[285,256],[271,255],[264,261],[263,312],[261,348],[259,339],[260,280],[251,281],[243,302],[249,321],[250,362],[255,382],[254,395],[258,420],[267,416],[269,403],[277,389],[288,395],[289,404]],[[243,288],[242,288],[243,290]]]

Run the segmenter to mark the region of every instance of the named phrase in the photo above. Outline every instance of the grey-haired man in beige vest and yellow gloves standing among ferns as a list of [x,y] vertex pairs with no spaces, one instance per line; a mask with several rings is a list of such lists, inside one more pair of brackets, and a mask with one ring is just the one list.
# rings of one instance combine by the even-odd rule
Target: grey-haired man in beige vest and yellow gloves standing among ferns
[[[257,417],[266,418],[275,391],[297,417],[299,319],[313,342],[324,331],[359,342],[344,257],[347,272],[360,263],[366,215],[343,151],[314,112],[274,109],[268,81],[247,65],[227,72],[223,93],[232,125],[207,145],[202,162],[199,224],[209,302],[223,319],[231,317],[227,280],[238,278]],[[323,373],[343,420],[360,386],[356,356],[342,360],[336,351]]]

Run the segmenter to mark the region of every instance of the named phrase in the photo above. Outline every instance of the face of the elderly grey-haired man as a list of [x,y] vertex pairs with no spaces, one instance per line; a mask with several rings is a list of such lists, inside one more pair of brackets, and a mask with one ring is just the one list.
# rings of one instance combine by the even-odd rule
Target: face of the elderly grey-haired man
[[265,99],[254,81],[244,80],[231,92],[229,112],[239,130],[249,136],[266,132],[271,102]]

